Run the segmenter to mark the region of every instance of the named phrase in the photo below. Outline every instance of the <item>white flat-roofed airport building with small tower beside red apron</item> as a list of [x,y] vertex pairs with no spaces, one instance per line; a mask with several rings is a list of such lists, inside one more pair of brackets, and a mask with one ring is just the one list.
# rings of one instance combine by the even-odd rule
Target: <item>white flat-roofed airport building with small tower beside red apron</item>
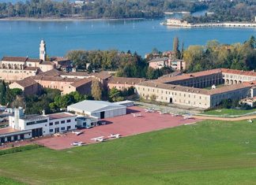
[[9,127],[0,129],[0,143],[31,139],[76,129],[77,116],[72,113],[24,115],[15,109],[9,116]]

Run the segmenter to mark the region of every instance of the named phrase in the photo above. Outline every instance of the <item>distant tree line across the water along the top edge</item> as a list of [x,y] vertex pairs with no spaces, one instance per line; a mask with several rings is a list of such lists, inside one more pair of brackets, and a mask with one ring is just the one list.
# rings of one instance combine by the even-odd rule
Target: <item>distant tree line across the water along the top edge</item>
[[164,17],[164,11],[205,9],[205,2],[186,0],[95,0],[76,6],[68,0],[30,0],[0,3],[0,17],[151,18]]

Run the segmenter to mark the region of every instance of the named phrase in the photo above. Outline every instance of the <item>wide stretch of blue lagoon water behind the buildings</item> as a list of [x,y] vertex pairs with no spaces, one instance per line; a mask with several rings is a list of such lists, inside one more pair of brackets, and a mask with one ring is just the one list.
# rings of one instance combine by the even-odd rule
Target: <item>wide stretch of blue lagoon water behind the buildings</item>
[[156,47],[171,50],[172,39],[189,45],[208,40],[238,43],[256,36],[256,28],[167,28],[162,20],[82,20],[82,21],[0,21],[0,57],[38,57],[40,39],[50,56],[68,50],[131,50],[144,55]]

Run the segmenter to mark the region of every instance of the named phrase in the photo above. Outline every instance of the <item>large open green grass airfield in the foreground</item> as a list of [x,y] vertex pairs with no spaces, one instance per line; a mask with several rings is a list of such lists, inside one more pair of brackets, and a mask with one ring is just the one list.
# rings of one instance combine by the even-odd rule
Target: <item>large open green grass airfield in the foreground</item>
[[0,161],[1,176],[32,184],[256,184],[256,124],[203,121]]

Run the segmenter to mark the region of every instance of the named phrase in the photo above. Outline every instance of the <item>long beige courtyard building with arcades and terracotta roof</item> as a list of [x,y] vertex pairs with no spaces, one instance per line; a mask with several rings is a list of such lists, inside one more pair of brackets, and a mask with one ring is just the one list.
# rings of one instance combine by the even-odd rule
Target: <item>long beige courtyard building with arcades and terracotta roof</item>
[[[135,85],[141,98],[209,109],[224,99],[253,98],[256,72],[218,68],[180,76],[164,76]],[[222,87],[216,85],[223,84]],[[212,87],[212,89],[205,89]]]

